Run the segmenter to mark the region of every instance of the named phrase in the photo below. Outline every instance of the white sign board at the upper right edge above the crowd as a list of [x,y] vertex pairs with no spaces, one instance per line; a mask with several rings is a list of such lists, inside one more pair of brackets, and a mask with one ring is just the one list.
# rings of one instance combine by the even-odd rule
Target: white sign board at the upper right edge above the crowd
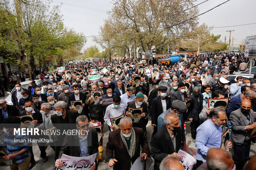
[[256,35],[246,37],[244,57],[256,58]]

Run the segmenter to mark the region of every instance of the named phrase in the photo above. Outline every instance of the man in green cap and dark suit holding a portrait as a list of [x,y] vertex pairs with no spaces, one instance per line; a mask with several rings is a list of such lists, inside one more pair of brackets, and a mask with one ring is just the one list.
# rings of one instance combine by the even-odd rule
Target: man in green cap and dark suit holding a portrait
[[[135,119],[134,119],[133,127],[142,128],[145,137],[147,137],[146,125],[148,122],[148,110],[147,110],[147,103],[144,102],[143,100],[144,100],[143,93],[141,93],[141,92],[137,93],[136,97],[135,97],[135,101],[128,102],[128,104],[127,104],[126,116],[130,116],[130,113],[128,112],[128,107],[131,107],[134,109],[142,107],[142,113],[139,116],[140,120],[135,121]],[[135,116],[135,115],[133,115],[133,116]]]

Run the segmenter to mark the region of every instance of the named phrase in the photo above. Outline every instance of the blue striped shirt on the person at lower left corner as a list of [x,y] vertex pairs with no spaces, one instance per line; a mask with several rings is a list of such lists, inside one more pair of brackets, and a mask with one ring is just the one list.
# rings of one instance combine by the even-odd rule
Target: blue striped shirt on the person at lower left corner
[[[15,140],[20,141],[19,143],[14,142]],[[23,141],[23,142],[21,142]],[[26,142],[24,142],[26,141]],[[21,163],[24,161],[30,154],[29,149],[32,147],[32,143],[28,142],[28,136],[24,135],[11,135],[10,133],[5,133],[5,139],[1,143],[1,146],[7,146],[7,153],[10,154],[15,154],[22,149],[26,149],[27,151],[24,152],[23,154],[20,154],[19,156],[16,156],[12,160],[15,161],[16,163]]]

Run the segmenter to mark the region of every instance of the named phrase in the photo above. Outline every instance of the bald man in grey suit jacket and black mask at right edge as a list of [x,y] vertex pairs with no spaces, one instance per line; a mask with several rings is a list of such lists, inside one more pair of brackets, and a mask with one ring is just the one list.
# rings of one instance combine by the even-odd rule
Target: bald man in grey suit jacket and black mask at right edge
[[251,131],[256,128],[255,114],[251,109],[250,100],[242,100],[241,108],[231,112],[230,122],[231,141],[234,148],[232,158],[237,170],[242,170],[249,158],[251,142],[255,142],[255,138],[249,138]]

